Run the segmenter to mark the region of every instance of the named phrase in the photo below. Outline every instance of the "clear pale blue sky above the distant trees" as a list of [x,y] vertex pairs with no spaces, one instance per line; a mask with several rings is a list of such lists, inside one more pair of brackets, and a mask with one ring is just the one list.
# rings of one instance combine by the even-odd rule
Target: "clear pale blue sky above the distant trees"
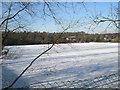
[[[115,10],[118,7],[117,2],[85,2],[84,5],[80,3],[71,3],[68,2],[65,4],[64,2],[60,2],[64,6],[57,7],[55,3],[51,3],[53,6],[52,10],[55,12],[55,15],[58,20],[63,23],[64,27],[67,27],[68,24],[73,25],[77,20],[79,20],[79,24],[73,25],[73,28],[69,29],[70,32],[78,32],[85,31],[89,33],[103,33],[104,29],[107,27],[109,22],[101,23],[94,30],[95,25],[93,24],[91,29],[89,30],[90,24],[93,23],[92,19],[98,16],[104,17],[112,17],[114,18],[114,14],[116,14]],[[40,6],[36,6],[35,8],[38,10],[42,10],[43,4]],[[112,7],[112,8],[111,8]],[[5,7],[3,6],[3,11]],[[46,9],[46,12],[48,9]],[[49,13],[49,12],[47,12]],[[111,14],[112,13],[112,14]],[[24,14],[25,19],[29,22],[30,31],[39,31],[39,32],[62,32],[62,28],[60,25],[57,25],[53,18],[46,16],[44,19],[42,17],[41,12],[36,10],[36,16],[30,18]],[[110,29],[108,28],[107,32],[114,32],[115,28],[111,25]]]

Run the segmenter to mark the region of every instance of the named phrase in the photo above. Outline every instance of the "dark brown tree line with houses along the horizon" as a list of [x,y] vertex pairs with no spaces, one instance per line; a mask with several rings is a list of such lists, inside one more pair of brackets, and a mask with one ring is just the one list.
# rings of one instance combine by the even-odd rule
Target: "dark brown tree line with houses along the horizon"
[[[51,44],[61,33],[9,32],[4,45]],[[2,33],[5,36],[5,32]],[[85,32],[65,32],[56,43],[118,42],[118,33],[88,34]]]

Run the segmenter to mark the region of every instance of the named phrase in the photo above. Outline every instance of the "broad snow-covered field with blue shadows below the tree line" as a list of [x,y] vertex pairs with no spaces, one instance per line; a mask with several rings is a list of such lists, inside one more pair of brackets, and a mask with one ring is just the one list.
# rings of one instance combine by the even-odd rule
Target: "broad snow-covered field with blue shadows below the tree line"
[[[50,46],[50,45],[49,45]],[[3,87],[8,86],[48,45],[7,46],[3,65]],[[118,72],[118,43],[56,44],[35,61],[13,87],[74,81]]]

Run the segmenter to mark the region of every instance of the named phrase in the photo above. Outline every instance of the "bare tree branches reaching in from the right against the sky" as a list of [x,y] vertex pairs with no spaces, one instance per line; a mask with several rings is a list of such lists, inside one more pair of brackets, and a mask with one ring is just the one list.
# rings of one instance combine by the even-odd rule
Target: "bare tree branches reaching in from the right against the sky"
[[[99,24],[102,24],[102,23],[109,23],[105,30],[104,31],[107,31],[107,28],[110,27],[110,25],[113,25],[115,26],[118,30],[120,29],[119,28],[119,23],[120,23],[120,20],[119,20],[119,17],[120,17],[120,12],[119,12],[119,3],[118,3],[118,7],[114,7],[111,5],[110,7],[110,10],[111,12],[108,13],[107,16],[104,16],[104,15],[96,15],[94,18],[93,18],[93,22],[98,26]],[[97,27],[96,26],[96,27]]]

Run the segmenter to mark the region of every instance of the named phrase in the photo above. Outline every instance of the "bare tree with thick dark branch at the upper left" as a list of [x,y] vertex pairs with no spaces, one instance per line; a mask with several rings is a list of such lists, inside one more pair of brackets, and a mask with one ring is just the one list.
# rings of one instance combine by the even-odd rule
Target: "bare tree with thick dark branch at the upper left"
[[[8,7],[8,9],[5,12],[3,12],[3,15],[4,15],[2,17],[3,21],[0,24],[1,30],[4,31],[4,33],[5,33],[4,36],[2,37],[3,38],[2,39],[3,47],[4,47],[5,40],[6,40],[7,36],[9,35],[9,32],[14,32],[19,29],[23,29],[25,27],[18,22],[18,19],[16,17],[18,17],[22,11],[26,10],[27,7],[29,7],[30,3],[18,3],[18,4],[20,5],[21,9],[16,11],[15,13],[13,13],[13,9],[12,9],[12,6],[14,5],[13,2],[10,2],[10,4],[7,4],[7,3],[4,4],[4,5],[6,5],[6,7]],[[15,24],[15,28],[10,29],[9,24],[12,24],[12,25]],[[2,49],[3,49],[3,47],[2,47]]]

